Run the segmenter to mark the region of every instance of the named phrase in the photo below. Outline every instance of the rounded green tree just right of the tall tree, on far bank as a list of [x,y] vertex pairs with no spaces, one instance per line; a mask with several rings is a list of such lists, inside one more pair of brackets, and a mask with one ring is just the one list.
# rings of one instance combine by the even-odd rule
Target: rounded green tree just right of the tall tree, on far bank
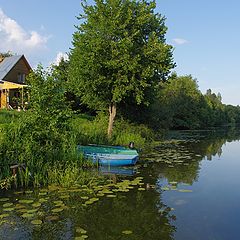
[[163,127],[196,129],[201,126],[205,107],[196,79],[173,74],[162,84],[154,112]]

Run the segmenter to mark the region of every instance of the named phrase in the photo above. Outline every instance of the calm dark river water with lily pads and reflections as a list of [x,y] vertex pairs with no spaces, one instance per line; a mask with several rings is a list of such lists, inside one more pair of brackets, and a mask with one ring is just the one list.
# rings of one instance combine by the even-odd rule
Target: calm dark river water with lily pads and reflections
[[[102,169],[108,182],[94,183],[94,191],[75,186],[2,193],[0,239],[240,239],[239,131],[172,137],[135,169],[121,169],[121,175]],[[97,195],[102,189],[109,193]],[[86,196],[96,199],[86,204]],[[23,199],[33,202],[19,203]],[[32,215],[23,217],[26,211]]]

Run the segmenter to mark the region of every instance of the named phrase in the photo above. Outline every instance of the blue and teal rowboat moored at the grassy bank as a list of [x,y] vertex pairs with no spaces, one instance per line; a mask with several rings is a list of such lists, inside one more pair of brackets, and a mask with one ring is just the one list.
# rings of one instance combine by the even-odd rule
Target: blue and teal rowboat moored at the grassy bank
[[79,145],[78,150],[93,163],[105,166],[131,166],[139,158],[137,150],[121,146]]

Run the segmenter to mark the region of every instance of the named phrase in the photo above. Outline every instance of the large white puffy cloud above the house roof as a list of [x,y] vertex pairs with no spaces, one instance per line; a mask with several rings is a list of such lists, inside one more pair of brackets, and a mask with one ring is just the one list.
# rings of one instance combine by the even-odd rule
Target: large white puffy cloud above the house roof
[[31,53],[46,48],[49,37],[24,30],[0,8],[0,52]]

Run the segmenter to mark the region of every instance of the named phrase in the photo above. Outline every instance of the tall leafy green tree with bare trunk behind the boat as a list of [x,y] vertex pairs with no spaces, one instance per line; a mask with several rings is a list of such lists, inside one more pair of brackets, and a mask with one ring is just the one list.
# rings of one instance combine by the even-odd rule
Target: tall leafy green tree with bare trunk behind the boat
[[82,4],[73,34],[69,86],[95,110],[109,109],[108,136],[117,105],[126,98],[149,103],[154,91],[175,66],[166,44],[165,18],[155,1],[95,0]]

